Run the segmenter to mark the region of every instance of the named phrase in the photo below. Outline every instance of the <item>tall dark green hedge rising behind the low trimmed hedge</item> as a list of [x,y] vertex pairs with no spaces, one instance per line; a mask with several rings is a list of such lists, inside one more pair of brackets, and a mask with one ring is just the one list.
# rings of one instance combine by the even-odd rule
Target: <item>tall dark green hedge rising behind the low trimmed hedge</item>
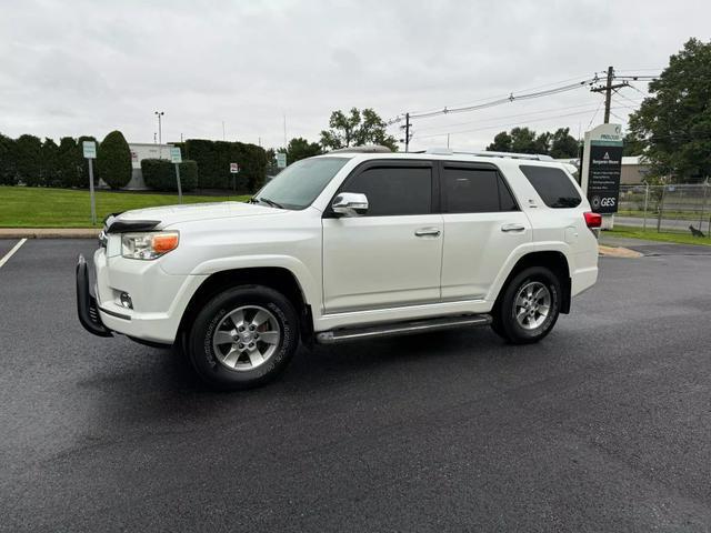
[[[254,192],[267,177],[267,152],[256,144],[228,141],[188,139],[174,143],[186,159],[198,163],[200,189],[232,189],[233,180],[239,192]],[[240,172],[230,173],[230,163],[238,163]]]

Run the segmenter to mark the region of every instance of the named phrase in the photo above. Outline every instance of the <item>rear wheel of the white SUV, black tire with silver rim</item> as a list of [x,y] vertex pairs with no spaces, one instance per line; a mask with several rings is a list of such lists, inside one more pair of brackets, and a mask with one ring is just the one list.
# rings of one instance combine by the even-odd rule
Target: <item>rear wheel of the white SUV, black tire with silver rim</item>
[[528,268],[505,286],[492,312],[492,329],[513,344],[538,342],[555,325],[560,298],[554,272],[544,266]]

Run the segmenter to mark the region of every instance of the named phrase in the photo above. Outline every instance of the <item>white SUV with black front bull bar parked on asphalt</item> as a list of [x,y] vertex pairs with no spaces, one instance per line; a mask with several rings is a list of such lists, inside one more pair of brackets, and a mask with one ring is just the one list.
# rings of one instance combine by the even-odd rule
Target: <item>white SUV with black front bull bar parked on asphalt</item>
[[354,149],[298,161],[249,203],[111,215],[79,319],[179,344],[222,389],[310,345],[491,324],[535,342],[598,278],[599,214],[537,157]]

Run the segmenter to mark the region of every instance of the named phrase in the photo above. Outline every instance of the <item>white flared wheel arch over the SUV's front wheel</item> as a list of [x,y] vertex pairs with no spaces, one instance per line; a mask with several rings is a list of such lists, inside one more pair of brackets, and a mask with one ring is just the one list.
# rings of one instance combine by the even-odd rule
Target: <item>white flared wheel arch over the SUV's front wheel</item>
[[190,298],[180,319],[178,334],[187,331],[192,319],[210,299],[226,289],[239,285],[262,285],[283,294],[299,315],[301,339],[308,342],[313,338],[313,319],[304,291],[296,274],[283,266],[249,266],[210,274]]

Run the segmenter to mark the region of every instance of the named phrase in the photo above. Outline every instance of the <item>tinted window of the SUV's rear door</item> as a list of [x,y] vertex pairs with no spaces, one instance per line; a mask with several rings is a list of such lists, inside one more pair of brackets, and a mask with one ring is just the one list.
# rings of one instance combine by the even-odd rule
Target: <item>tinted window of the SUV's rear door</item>
[[495,170],[444,167],[448,213],[515,211],[509,188]]

